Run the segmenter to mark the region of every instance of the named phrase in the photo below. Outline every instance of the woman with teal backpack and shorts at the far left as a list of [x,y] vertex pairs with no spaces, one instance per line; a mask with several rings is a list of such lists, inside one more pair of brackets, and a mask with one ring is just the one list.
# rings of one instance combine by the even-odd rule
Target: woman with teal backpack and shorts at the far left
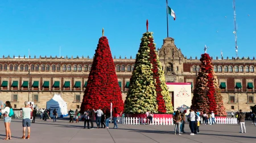
[[13,108],[11,107],[10,101],[5,102],[5,109],[0,110],[1,113],[4,116],[4,122],[5,122],[5,132],[6,132],[6,138],[3,138],[3,140],[11,140],[11,117],[14,115]]

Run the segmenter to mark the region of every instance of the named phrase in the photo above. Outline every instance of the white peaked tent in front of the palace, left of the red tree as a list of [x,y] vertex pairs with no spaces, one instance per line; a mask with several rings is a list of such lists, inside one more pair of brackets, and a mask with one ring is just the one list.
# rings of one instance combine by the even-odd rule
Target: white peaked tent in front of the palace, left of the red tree
[[51,117],[53,117],[52,115],[52,111],[54,109],[56,109],[58,117],[63,117],[63,116],[67,116],[68,115],[68,106],[67,106],[67,102],[65,102],[60,94],[54,94],[54,96],[52,97],[52,99],[50,99],[49,101],[46,102],[46,108],[47,109],[51,109]]

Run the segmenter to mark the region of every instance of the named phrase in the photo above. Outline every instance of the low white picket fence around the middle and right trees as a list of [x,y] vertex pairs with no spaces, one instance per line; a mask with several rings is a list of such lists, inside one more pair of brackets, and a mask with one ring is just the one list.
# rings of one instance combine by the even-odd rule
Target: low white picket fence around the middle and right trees
[[[148,120],[149,122],[149,120]],[[237,118],[215,118],[216,124],[237,124]],[[146,124],[146,118],[123,117],[119,118],[120,124]],[[208,120],[208,123],[209,120]],[[201,119],[203,124],[203,119]],[[153,118],[152,125],[174,125],[173,118]]]

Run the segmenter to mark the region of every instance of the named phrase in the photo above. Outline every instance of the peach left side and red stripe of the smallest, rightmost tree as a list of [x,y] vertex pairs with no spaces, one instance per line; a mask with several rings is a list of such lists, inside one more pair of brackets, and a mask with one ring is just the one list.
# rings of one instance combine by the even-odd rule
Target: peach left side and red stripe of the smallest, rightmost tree
[[196,86],[192,98],[192,107],[199,111],[216,112],[214,74],[212,59],[205,53],[200,58],[201,66],[196,78]]

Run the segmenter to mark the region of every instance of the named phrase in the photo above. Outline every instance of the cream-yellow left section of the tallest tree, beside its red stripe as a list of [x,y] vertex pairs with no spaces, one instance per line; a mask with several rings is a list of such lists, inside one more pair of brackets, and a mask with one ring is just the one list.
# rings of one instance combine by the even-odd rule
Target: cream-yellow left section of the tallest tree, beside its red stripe
[[125,100],[126,113],[144,113],[147,110],[157,112],[158,110],[147,34],[143,34],[136,55],[134,71]]

